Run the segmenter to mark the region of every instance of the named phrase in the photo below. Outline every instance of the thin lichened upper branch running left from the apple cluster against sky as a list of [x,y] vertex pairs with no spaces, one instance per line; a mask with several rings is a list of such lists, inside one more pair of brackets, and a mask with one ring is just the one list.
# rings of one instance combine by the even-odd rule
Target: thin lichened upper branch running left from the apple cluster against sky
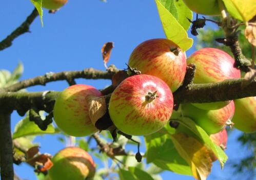
[[53,81],[66,80],[68,82],[74,81],[75,78],[86,78],[86,79],[111,79],[113,74],[117,70],[113,71],[101,71],[93,68],[84,69],[82,71],[63,71],[58,73],[47,73],[45,75],[37,76],[34,78],[26,79],[18,82],[12,86],[4,88],[5,91],[18,91],[27,87],[35,85],[43,85]]

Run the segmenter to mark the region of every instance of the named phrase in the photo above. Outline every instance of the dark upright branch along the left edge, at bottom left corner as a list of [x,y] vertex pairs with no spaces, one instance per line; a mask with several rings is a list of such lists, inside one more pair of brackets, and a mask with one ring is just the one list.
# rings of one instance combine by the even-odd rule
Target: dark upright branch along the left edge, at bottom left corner
[[12,180],[14,178],[10,115],[11,112],[0,111],[0,169],[2,180]]

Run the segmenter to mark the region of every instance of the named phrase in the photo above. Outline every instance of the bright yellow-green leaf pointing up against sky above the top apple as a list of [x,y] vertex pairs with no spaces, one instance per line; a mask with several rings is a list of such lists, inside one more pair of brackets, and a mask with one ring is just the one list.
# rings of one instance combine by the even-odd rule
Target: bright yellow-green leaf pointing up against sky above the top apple
[[160,19],[167,39],[177,44],[182,50],[186,51],[193,45],[193,39],[188,37],[186,30],[179,24],[175,17],[161,4],[155,0],[159,11]]

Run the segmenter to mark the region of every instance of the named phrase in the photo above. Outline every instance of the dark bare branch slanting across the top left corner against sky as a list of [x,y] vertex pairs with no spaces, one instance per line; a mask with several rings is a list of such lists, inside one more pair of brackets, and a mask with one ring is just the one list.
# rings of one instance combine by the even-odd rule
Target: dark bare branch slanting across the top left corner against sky
[[26,18],[26,20],[21,24],[21,26],[19,26],[17,29],[15,29],[2,42],[0,42],[0,51],[4,50],[5,48],[10,47],[12,45],[12,41],[19,35],[29,32],[29,26],[34,21],[34,19],[37,17],[37,15],[38,15],[38,12],[36,9],[34,9],[31,12],[31,14]]

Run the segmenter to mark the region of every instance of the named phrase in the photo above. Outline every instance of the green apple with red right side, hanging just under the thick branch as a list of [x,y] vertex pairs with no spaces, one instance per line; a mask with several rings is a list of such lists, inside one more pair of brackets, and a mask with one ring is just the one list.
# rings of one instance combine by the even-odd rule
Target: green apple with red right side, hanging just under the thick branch
[[217,110],[203,110],[191,104],[182,104],[182,114],[191,118],[208,134],[214,134],[223,130],[228,120],[234,115],[234,102]]

